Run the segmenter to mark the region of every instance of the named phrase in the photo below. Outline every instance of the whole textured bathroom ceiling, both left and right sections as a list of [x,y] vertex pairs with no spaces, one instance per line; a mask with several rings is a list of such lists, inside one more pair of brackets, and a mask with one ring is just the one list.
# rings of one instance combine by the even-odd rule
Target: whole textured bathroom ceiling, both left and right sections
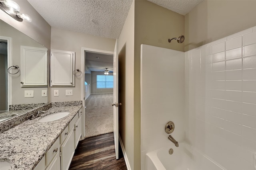
[[[185,15],[202,0],[148,0]],[[52,26],[117,39],[132,0],[28,0]]]

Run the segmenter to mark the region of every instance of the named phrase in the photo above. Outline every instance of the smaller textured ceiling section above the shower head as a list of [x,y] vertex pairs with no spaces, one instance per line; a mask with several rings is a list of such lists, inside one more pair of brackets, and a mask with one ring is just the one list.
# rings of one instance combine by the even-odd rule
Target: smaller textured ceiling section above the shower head
[[199,4],[204,0],[148,0],[148,1],[153,2],[154,4],[157,4],[164,8],[167,8],[168,10],[177,12],[178,14],[186,15],[197,4]]

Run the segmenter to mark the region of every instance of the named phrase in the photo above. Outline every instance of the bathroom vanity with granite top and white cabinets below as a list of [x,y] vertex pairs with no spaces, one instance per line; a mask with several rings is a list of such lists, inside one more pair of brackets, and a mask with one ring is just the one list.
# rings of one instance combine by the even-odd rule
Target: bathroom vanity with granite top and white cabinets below
[[[40,122],[59,112],[69,114]],[[9,162],[11,170],[68,170],[82,135],[83,114],[81,105],[52,107],[36,119],[4,131],[0,134],[0,162]]]

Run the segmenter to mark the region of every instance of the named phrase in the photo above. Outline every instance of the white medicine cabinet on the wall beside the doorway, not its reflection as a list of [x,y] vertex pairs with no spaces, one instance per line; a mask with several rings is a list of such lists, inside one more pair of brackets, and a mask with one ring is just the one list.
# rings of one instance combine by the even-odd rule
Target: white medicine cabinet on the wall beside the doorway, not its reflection
[[75,70],[75,52],[51,50],[50,67],[51,87],[75,86],[73,75],[73,70]]

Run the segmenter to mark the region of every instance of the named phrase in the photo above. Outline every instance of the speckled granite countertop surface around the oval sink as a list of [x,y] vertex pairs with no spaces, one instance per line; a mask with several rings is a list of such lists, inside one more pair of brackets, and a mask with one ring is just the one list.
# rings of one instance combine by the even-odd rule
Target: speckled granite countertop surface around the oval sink
[[[40,117],[27,120],[0,134],[0,161],[11,164],[11,170],[32,170],[54,144],[82,106],[52,107]],[[42,117],[68,111],[66,117],[45,123]]]

